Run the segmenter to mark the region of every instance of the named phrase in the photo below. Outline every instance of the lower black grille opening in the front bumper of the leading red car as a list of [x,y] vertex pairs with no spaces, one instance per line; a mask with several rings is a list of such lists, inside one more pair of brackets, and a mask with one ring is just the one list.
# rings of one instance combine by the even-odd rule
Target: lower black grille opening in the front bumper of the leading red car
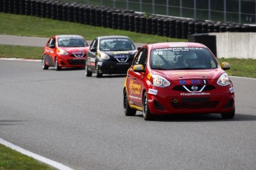
[[218,105],[218,101],[205,101],[205,102],[171,102],[174,109],[212,109]]

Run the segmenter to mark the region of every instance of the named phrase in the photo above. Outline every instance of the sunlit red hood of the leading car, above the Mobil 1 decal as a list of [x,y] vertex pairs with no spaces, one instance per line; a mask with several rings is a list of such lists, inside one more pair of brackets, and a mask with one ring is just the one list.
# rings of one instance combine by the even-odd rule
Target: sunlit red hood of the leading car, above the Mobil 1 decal
[[170,80],[203,78],[203,79],[217,79],[224,73],[223,69],[194,69],[194,70],[152,70],[155,75],[161,75]]

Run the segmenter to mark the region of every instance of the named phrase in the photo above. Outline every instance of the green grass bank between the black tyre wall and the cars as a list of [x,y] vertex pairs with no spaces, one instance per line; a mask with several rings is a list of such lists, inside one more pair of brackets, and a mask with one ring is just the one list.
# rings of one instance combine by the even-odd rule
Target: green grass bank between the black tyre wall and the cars
[[148,35],[125,30],[114,30],[105,27],[93,27],[86,24],[57,21],[49,18],[22,16],[0,13],[0,34],[21,35],[49,38],[59,34],[83,35],[93,40],[99,35],[126,35],[136,43],[154,43],[162,41],[187,41],[186,39],[168,38],[159,35]]

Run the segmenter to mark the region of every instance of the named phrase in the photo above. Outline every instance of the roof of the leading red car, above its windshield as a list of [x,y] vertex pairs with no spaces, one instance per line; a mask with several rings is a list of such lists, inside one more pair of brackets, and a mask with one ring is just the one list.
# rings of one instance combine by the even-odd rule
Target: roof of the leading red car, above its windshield
[[164,42],[164,43],[156,43],[156,44],[148,44],[152,49],[159,48],[178,48],[178,47],[202,47],[206,46],[200,43],[193,42]]

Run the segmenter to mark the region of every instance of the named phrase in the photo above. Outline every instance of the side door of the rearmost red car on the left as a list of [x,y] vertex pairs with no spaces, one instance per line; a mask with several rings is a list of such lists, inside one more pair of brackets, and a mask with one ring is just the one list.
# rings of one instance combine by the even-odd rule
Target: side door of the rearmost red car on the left
[[55,50],[56,50],[56,38],[52,37],[47,41],[47,44],[44,49],[45,59],[50,66],[54,66]]

